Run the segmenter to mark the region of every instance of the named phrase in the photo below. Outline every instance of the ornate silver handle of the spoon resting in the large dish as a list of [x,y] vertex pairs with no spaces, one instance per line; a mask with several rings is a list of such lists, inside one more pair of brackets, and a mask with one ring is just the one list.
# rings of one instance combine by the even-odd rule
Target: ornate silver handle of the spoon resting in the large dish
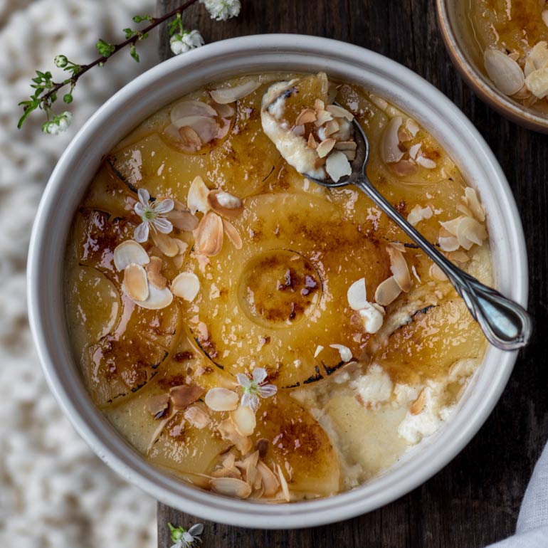
[[532,334],[532,318],[522,306],[507,299],[498,291],[488,288],[487,285],[483,285],[451,263],[386,201],[367,176],[360,176],[354,184],[364,191],[443,270],[493,346],[502,350],[525,347]]

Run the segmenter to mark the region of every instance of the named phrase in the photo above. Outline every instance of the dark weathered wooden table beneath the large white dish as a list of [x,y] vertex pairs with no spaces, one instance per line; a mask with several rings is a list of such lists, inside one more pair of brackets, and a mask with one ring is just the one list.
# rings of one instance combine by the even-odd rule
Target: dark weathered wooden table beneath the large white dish
[[[159,10],[176,7],[159,0]],[[529,255],[532,344],[520,354],[495,411],[453,462],[396,502],[354,520],[298,531],[227,527],[158,506],[159,547],[169,547],[167,522],[204,522],[204,548],[332,547],[479,548],[512,534],[534,463],[548,438],[548,367],[542,332],[548,325],[548,136],[517,127],[466,87],[446,54],[433,0],[243,0],[241,15],[209,19],[195,4],[186,28],[206,43],[255,33],[290,32],[337,38],[382,53],[433,83],[487,140],[512,186]],[[169,56],[166,34],[162,56]],[[512,268],[512,265],[508,265]]]

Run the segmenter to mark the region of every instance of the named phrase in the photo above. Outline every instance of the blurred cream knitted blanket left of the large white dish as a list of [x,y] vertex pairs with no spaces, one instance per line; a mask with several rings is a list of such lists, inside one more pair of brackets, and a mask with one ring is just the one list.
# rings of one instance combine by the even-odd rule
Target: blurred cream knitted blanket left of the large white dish
[[156,542],[155,502],[91,453],[46,386],[26,321],[25,262],[36,207],[56,160],[102,102],[157,62],[157,37],[143,44],[139,65],[122,52],[122,59],[112,58],[80,80],[67,133],[42,135],[38,114],[16,129],[16,105],[30,95],[34,69],[51,70],[58,53],[91,60],[97,38],[119,41],[133,15],[153,11],[154,0],[0,0],[2,548],[140,548]]

